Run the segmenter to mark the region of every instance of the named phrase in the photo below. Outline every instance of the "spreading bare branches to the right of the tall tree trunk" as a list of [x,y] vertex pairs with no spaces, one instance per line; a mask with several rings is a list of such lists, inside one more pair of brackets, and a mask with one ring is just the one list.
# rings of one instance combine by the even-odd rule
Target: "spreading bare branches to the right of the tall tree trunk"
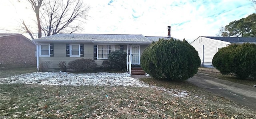
[[50,4],[51,9],[46,8],[49,16],[48,23],[50,23],[49,26],[51,26],[48,28],[47,36],[58,34],[60,31],[73,33],[81,30],[81,28],[73,27],[71,24],[74,20],[86,20],[86,13],[90,8],[89,6],[84,6],[83,2],[80,0],[67,0],[66,4],[64,4],[62,0],[62,2],[51,2]]

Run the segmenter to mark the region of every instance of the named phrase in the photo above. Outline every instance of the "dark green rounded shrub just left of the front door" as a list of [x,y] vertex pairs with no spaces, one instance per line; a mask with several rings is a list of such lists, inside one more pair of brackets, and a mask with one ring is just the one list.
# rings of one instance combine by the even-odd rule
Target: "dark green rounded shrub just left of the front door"
[[111,67],[116,70],[126,70],[126,52],[122,50],[115,50],[111,52],[108,56],[108,60],[111,64]]

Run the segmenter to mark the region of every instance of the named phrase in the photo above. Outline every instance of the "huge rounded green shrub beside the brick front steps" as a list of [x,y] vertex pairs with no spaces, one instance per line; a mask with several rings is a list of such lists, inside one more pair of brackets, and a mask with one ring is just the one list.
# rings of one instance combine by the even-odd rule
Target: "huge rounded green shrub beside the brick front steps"
[[146,73],[157,79],[186,80],[200,66],[198,52],[186,40],[164,40],[151,43],[140,58]]

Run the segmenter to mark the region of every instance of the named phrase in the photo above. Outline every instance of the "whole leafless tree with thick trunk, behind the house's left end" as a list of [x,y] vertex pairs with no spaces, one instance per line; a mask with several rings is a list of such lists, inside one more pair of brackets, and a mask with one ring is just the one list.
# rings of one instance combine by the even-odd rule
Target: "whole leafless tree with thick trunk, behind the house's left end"
[[[81,0],[28,0],[36,13],[38,38],[58,33],[73,33],[82,30],[79,23],[84,23],[89,6]],[[41,9],[40,9],[41,8]],[[77,21],[77,22],[74,22]],[[22,22],[23,29],[30,32],[26,24]],[[32,39],[32,35],[30,35]]]

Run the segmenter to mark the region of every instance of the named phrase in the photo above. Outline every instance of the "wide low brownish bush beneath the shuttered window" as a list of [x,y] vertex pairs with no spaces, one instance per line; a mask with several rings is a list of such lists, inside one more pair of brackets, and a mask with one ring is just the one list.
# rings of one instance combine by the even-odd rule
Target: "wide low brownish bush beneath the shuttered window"
[[92,71],[96,68],[97,64],[92,59],[76,59],[68,63],[69,68],[76,72]]

